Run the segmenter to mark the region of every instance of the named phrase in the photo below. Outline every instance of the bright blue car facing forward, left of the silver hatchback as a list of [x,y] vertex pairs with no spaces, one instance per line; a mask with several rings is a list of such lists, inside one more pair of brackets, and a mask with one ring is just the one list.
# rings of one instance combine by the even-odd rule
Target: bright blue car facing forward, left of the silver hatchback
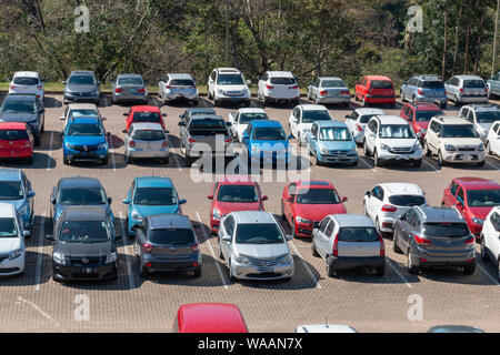
[[108,164],[108,136],[109,133],[106,132],[99,118],[72,118],[62,133],[64,164],[68,165],[74,161]]

